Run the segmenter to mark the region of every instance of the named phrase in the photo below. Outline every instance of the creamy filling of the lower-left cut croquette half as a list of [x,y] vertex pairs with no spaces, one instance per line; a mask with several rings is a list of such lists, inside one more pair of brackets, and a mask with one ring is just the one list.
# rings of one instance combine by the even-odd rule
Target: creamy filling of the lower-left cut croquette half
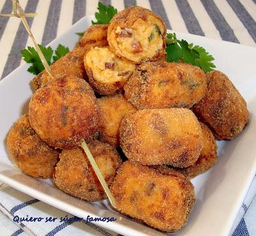
[[127,80],[135,69],[134,63],[120,59],[109,48],[92,48],[85,61],[92,70],[93,79],[104,84]]

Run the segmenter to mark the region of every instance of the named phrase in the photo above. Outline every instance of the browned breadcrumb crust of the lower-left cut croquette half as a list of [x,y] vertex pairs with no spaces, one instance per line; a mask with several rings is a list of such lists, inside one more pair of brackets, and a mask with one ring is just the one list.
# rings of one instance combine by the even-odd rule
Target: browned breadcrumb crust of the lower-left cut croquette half
[[[113,95],[120,91],[123,91],[124,85],[127,82],[127,79],[123,78],[119,81],[113,82],[113,83],[102,83],[100,81],[97,81],[93,78],[93,72],[91,68],[86,64],[86,54],[92,49],[93,47],[88,48],[86,50],[86,53],[84,54],[84,68],[86,70],[87,76],[88,76],[88,82],[92,86],[93,90],[98,92],[101,95]],[[108,48],[108,47],[106,47]],[[132,74],[132,72],[131,72]]]

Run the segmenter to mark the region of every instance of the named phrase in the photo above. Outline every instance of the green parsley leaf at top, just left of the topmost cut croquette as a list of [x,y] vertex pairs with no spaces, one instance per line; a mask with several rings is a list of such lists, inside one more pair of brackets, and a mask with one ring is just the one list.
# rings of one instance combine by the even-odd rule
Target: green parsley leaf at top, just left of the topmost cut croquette
[[111,5],[104,5],[102,3],[98,3],[97,9],[99,12],[95,13],[96,22],[92,20],[92,24],[109,24],[111,18],[117,13],[117,9]]

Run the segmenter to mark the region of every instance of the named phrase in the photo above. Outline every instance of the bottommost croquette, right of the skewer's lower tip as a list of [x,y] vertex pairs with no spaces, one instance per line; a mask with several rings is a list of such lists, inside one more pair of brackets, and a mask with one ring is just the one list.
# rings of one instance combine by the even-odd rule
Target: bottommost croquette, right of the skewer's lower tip
[[164,232],[188,222],[195,191],[184,175],[125,161],[111,184],[116,209]]

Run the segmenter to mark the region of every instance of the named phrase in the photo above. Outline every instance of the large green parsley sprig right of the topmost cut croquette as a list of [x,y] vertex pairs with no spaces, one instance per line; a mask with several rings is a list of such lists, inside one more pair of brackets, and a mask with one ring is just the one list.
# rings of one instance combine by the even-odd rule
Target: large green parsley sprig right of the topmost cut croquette
[[186,40],[177,40],[176,34],[166,34],[166,53],[168,62],[179,62],[199,66],[205,72],[213,70],[216,66],[212,63],[214,57],[206,52],[203,47],[193,46]]

